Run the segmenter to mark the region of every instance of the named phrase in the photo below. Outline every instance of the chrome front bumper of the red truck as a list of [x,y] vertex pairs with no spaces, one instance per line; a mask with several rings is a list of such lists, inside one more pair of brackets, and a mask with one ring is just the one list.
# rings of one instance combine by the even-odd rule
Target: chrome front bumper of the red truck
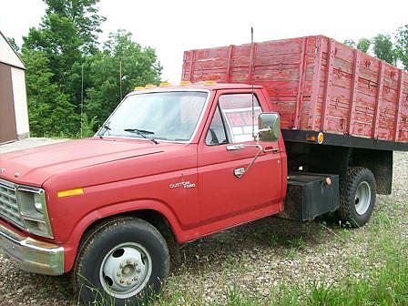
[[24,237],[0,224],[0,252],[29,272],[64,274],[64,248],[56,244]]

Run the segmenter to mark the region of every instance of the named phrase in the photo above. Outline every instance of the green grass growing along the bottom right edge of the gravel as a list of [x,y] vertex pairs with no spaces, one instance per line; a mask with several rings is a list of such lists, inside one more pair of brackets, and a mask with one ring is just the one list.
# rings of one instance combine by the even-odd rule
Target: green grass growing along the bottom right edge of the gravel
[[[389,238],[389,237],[388,237]],[[408,265],[407,241],[388,240],[385,237],[381,255],[385,259],[380,269],[371,270],[365,277],[353,273],[346,275],[338,284],[324,279],[305,285],[299,283],[281,284],[270,289],[268,297],[256,291],[241,289],[233,284],[219,295],[222,301],[204,301],[197,296],[181,293],[178,288],[170,288],[173,293],[161,296],[157,305],[210,305],[210,306],[393,306],[408,305]],[[385,244],[384,244],[385,243]],[[171,285],[170,285],[171,286]]]

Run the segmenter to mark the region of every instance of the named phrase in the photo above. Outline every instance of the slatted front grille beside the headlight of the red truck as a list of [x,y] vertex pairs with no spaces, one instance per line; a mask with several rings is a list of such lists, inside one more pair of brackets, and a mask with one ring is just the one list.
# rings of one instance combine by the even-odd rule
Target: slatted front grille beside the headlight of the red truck
[[18,209],[15,184],[4,179],[0,179],[0,216],[20,227],[24,227],[24,222]]

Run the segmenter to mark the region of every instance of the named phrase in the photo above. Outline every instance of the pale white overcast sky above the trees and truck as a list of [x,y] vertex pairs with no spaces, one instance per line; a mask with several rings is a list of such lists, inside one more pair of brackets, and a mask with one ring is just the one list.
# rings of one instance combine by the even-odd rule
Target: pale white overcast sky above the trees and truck
[[[18,44],[28,29],[38,26],[46,5],[41,0],[0,0],[0,31]],[[101,0],[107,17],[100,40],[119,28],[133,34],[142,46],[157,50],[162,80],[178,83],[183,51],[211,46],[309,35],[337,41],[393,33],[408,24],[408,1],[366,0]]]

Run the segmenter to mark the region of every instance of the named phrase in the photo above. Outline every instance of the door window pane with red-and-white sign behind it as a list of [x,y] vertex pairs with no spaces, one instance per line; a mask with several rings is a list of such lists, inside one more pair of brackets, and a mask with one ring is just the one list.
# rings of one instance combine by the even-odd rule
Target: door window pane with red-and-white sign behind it
[[255,125],[254,132],[258,132],[258,116],[261,113],[260,103],[256,96],[253,97],[254,114],[252,120],[252,95],[231,94],[219,97],[219,107],[225,119],[227,133],[231,143],[253,140],[252,121]]

